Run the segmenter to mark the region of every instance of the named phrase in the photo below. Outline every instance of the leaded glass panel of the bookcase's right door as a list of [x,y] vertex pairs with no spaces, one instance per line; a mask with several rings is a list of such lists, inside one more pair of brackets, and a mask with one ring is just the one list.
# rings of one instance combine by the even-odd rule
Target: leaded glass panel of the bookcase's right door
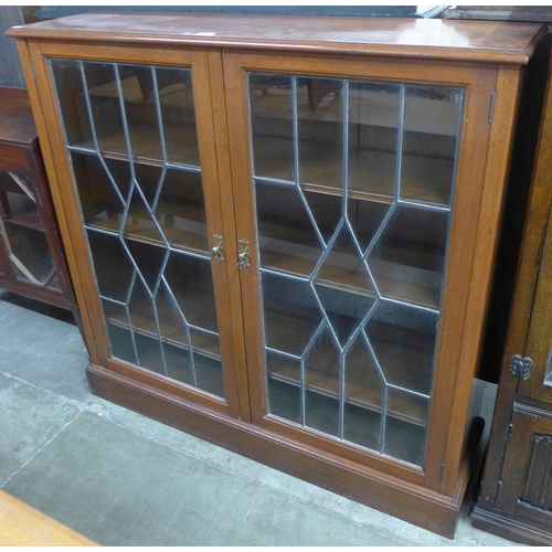
[[251,60],[254,420],[423,474],[468,86]]

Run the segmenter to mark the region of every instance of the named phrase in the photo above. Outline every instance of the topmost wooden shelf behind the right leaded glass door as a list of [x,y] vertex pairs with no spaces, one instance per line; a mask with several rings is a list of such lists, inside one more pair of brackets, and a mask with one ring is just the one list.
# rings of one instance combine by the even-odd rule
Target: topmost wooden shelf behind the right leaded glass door
[[[255,177],[295,182],[291,139],[254,137]],[[349,197],[391,202],[395,199],[396,155],[369,149],[349,150]],[[449,208],[454,161],[403,155],[401,199]],[[342,195],[340,148],[305,144],[299,152],[299,180],[305,190]]]

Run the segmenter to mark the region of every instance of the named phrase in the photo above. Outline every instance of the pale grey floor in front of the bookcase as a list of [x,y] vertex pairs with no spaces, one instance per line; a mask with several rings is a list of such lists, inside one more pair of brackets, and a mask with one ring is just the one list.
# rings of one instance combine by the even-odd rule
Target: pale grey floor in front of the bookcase
[[30,307],[0,290],[0,487],[99,544],[514,545],[466,514],[438,537],[93,396],[70,317]]

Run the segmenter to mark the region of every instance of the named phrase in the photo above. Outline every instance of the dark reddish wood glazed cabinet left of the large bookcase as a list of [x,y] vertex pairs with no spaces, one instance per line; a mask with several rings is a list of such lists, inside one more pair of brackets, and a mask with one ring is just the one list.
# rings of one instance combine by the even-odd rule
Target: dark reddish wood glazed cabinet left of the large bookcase
[[24,88],[0,87],[0,287],[70,309],[79,322]]

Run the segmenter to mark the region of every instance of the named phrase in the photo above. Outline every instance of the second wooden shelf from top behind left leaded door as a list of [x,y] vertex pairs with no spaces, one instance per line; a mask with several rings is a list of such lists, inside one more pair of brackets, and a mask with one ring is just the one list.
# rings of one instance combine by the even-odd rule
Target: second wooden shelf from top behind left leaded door
[[[171,247],[209,257],[209,240],[202,208],[159,202],[156,215]],[[121,216],[121,213],[110,213],[106,208],[94,215],[87,215],[86,225],[91,229],[118,234]],[[164,246],[164,242],[146,209],[129,211],[123,236],[137,242]]]

